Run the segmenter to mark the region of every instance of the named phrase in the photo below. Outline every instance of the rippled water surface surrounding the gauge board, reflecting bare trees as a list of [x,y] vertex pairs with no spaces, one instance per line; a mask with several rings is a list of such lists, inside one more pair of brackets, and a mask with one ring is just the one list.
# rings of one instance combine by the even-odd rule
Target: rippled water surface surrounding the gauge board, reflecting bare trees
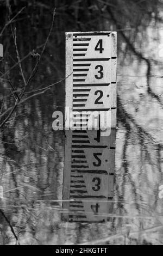
[[[161,16],[161,6],[157,11]],[[0,130],[2,245],[162,244],[163,199],[159,198],[159,187],[163,185],[163,23],[154,19],[154,13],[151,19],[137,26],[128,16],[122,27],[115,23],[116,16],[108,17],[98,29],[92,25],[89,30],[118,32],[116,178],[110,221],[91,224],[61,221],[64,133],[52,130],[52,113],[64,109],[63,81],[24,102]],[[33,32],[30,42],[26,39],[29,40],[30,27],[27,34],[21,30],[24,25],[17,27],[18,40],[23,38],[18,43],[21,56],[45,41],[49,24],[45,23],[37,35]],[[64,31],[56,26],[27,92],[65,77]],[[71,26],[68,24],[65,29],[74,30]],[[16,61],[8,33],[1,39],[5,50],[2,74]],[[34,62],[30,57],[23,62],[26,75]],[[9,76],[15,88],[21,88],[17,66],[9,71]],[[14,102],[9,76],[1,78],[2,111]]]

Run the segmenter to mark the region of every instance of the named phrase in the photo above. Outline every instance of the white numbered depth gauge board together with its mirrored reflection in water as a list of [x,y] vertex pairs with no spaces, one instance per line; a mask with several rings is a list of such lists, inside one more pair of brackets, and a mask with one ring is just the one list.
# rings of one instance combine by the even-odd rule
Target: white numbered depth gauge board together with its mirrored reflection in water
[[66,33],[65,221],[106,221],[111,211],[116,66],[116,32]]

